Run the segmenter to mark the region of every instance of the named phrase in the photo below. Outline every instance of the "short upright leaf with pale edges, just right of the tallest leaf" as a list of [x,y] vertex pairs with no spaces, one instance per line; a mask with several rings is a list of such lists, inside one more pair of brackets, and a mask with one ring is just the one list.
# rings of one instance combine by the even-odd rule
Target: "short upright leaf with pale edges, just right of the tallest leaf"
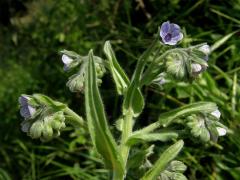
[[116,59],[116,56],[114,54],[114,51],[112,50],[112,47],[109,41],[105,42],[104,53],[107,56],[107,59],[109,62],[109,69],[113,76],[113,79],[117,88],[117,92],[118,94],[122,95],[124,91],[127,89],[127,87],[129,86],[130,81],[126,73],[124,72],[124,70],[118,64],[118,61]]

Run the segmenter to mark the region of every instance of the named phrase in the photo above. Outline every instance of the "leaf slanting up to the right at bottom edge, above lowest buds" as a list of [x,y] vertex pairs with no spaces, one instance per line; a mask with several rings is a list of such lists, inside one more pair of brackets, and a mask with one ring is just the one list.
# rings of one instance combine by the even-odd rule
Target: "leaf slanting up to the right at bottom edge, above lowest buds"
[[162,171],[165,170],[167,165],[178,155],[183,147],[183,140],[179,140],[167,150],[165,150],[159,157],[157,162],[153,165],[151,169],[143,176],[142,180],[155,180],[160,175]]

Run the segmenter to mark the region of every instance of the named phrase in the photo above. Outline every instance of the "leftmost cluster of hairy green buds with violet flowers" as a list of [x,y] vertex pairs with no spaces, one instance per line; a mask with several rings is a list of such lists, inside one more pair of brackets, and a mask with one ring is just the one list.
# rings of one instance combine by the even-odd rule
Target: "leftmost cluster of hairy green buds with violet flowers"
[[20,114],[24,117],[21,129],[33,139],[50,140],[59,136],[66,126],[63,111],[39,102],[34,96],[20,96],[19,104]]

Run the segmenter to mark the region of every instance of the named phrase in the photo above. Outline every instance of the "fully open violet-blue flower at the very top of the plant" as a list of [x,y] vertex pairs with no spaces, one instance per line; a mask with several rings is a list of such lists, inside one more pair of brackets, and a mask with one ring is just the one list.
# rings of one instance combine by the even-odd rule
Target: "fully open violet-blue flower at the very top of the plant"
[[160,28],[160,36],[163,43],[168,45],[175,45],[183,38],[180,27],[177,24],[169,23],[169,21],[162,24]]

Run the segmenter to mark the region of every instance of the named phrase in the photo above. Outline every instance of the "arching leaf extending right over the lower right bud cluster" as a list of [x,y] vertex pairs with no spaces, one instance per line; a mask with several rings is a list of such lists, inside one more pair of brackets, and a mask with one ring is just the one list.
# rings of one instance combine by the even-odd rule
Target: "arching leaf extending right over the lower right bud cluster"
[[194,113],[210,113],[217,110],[217,105],[212,102],[197,102],[182,106],[172,111],[160,115],[158,122],[160,125],[167,126],[174,119]]

